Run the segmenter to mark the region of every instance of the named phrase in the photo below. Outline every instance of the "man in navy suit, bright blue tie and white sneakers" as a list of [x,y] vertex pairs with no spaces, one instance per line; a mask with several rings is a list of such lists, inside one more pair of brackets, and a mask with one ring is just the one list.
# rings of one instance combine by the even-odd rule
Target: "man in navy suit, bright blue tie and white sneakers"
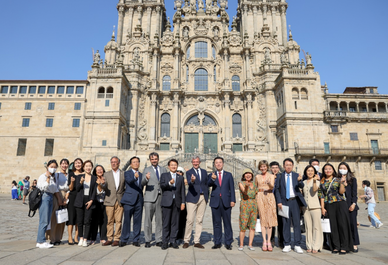
[[286,158],[283,161],[284,172],[277,179],[275,185],[275,197],[277,206],[282,209],[282,206],[288,206],[288,217],[283,217],[283,237],[284,248],[283,252],[291,251],[291,220],[294,225],[294,251],[303,253],[300,247],[302,234],[300,231],[300,206],[307,206],[300,189],[303,189],[302,176],[292,172],[294,161],[291,158]]

